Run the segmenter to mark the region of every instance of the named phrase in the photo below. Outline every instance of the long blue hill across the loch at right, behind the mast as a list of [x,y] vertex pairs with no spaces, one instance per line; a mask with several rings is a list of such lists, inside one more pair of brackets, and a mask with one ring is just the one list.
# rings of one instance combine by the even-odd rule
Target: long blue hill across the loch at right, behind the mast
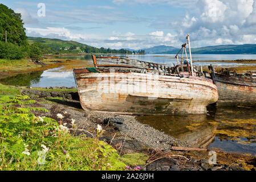
[[[220,46],[208,46],[200,48],[192,48],[193,54],[256,54],[256,44],[243,44],[243,45],[220,45]],[[159,51],[156,53],[175,54],[178,49],[173,49],[170,51]]]

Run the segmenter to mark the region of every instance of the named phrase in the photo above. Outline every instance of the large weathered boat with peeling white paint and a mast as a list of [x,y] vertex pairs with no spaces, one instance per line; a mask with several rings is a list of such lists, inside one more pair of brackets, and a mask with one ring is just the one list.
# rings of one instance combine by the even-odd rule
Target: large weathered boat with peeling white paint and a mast
[[135,115],[205,114],[206,106],[218,100],[216,85],[192,69],[189,61],[169,67],[149,62],[143,66],[103,65],[94,55],[92,59],[95,68],[74,69],[84,110]]

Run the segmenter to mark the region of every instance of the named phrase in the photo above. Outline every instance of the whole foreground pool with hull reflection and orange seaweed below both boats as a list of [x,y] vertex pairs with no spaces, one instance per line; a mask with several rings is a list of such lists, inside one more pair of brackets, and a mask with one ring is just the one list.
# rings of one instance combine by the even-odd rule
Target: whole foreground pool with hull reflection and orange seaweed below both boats
[[193,147],[256,154],[255,107],[208,106],[208,115],[139,116],[141,123]]

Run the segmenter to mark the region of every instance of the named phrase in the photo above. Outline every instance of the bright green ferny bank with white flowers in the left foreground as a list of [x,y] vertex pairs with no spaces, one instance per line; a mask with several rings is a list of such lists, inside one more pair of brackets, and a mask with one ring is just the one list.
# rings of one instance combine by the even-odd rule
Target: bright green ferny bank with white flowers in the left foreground
[[0,170],[125,170],[145,164],[145,155],[119,156],[115,148],[100,141],[100,126],[93,138],[76,135],[76,122],[65,114],[45,117],[29,96],[15,86],[0,84]]

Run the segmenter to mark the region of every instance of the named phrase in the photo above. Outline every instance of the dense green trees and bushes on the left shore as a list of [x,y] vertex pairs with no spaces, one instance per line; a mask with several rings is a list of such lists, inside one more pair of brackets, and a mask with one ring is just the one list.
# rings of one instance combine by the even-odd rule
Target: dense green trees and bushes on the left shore
[[0,59],[42,59],[42,51],[27,42],[21,14],[0,4]]

